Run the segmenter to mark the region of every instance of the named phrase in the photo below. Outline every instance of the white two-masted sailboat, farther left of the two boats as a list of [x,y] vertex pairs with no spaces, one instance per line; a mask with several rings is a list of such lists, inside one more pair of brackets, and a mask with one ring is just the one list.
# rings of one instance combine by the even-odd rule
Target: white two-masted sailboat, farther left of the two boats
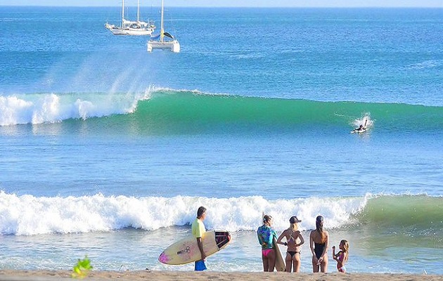
[[113,32],[114,35],[150,35],[155,30],[155,25],[152,22],[143,22],[139,18],[140,15],[140,0],[137,1],[137,20],[126,20],[124,18],[124,0],[122,0],[122,25],[116,27],[105,23],[105,28]]

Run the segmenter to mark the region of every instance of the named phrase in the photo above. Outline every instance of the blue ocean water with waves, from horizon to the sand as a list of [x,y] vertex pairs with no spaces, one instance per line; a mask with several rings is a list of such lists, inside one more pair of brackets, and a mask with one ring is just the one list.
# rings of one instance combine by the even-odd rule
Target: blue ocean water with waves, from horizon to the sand
[[203,205],[209,270],[262,270],[264,211],[302,220],[302,272],[321,214],[349,273],[443,274],[441,8],[165,15],[181,53],[118,7],[0,6],[0,269],[193,270],[158,256]]

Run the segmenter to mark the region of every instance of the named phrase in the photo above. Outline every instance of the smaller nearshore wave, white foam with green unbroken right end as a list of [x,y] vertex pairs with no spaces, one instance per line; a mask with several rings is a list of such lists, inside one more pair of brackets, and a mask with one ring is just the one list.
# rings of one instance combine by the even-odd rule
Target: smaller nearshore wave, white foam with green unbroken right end
[[266,200],[263,197],[127,197],[101,194],[82,197],[17,196],[0,192],[0,233],[38,235],[89,233],[122,228],[157,230],[192,223],[198,207],[207,207],[210,229],[257,230],[262,211],[274,228],[289,227],[290,216],[302,220],[300,230],[315,229],[325,218],[326,229],[371,228],[442,230],[443,198],[428,195],[366,195]]

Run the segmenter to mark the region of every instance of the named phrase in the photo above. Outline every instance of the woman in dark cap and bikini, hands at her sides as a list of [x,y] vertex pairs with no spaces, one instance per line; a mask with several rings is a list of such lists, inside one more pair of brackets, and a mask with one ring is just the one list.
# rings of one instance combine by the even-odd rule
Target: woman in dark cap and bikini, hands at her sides
[[[286,272],[291,272],[292,268],[294,268],[295,273],[300,271],[300,246],[304,243],[302,233],[300,233],[297,226],[297,223],[300,222],[297,216],[291,217],[289,228],[283,231],[277,239],[278,244],[288,246],[285,259]],[[286,242],[281,242],[283,237],[286,238]]]

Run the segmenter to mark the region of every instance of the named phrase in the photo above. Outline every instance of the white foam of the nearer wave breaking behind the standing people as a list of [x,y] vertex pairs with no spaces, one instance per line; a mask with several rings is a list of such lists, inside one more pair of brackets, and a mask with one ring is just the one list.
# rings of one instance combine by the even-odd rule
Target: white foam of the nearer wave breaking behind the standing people
[[288,228],[290,216],[302,219],[300,228],[315,228],[321,214],[326,228],[340,228],[366,205],[366,197],[266,200],[263,197],[83,197],[17,196],[0,192],[0,233],[88,233],[122,228],[156,230],[191,224],[201,205],[207,207],[210,229],[256,230],[262,211],[274,217],[274,228]]

